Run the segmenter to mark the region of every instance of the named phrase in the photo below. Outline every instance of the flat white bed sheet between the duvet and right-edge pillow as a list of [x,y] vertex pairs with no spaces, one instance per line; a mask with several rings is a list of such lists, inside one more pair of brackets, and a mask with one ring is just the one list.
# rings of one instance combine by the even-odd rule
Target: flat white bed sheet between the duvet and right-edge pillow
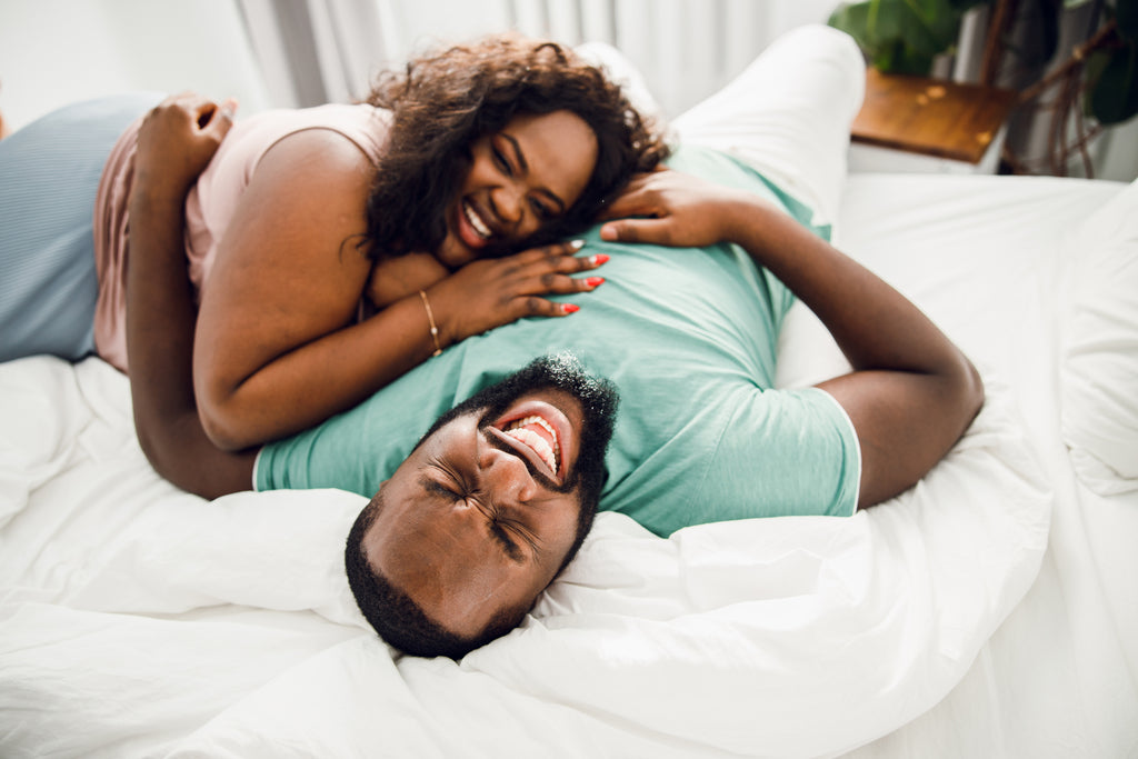
[[[1081,222],[1123,189],[1054,178],[849,180],[839,244],[998,366],[1055,493],[1048,552],[1023,602],[941,704],[857,757],[1138,756],[1138,498],[1097,496],[1078,480],[1056,401],[1062,264],[1083,242]],[[954,299],[933,291],[946,286]]]

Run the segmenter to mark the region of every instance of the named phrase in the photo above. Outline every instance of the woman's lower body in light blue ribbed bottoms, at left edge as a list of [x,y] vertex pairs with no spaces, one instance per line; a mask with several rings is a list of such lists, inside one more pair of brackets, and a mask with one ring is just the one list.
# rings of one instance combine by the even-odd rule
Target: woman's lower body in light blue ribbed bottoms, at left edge
[[0,361],[94,352],[94,195],[110,148],[155,102],[81,102],[0,140]]

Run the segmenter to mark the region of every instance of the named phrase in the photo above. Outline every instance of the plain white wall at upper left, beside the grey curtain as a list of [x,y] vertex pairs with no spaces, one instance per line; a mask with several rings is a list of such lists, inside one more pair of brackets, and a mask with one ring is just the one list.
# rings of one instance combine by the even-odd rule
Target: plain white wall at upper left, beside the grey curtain
[[131,90],[197,90],[264,109],[232,0],[0,0],[0,112],[17,129]]

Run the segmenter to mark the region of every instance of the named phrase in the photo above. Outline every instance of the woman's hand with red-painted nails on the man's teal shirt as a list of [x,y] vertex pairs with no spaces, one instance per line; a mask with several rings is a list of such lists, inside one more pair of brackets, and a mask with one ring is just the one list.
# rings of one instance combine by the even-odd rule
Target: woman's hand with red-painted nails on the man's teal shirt
[[572,277],[608,256],[576,255],[580,242],[561,242],[504,258],[475,261],[427,289],[440,339],[451,345],[523,316],[566,316],[578,311],[542,296],[591,292],[601,277]]

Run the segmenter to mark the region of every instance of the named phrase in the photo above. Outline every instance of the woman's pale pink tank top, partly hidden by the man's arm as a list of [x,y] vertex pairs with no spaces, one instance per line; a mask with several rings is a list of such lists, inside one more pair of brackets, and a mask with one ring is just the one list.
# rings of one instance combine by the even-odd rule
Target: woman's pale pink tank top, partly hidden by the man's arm
[[[112,365],[127,371],[126,245],[127,205],[134,182],[134,152],[142,119],[115,143],[102,170],[94,203],[94,263],[99,300],[94,344]],[[209,279],[217,244],[249,185],[257,163],[281,139],[310,129],[328,129],[352,140],[378,162],[387,138],[389,114],[368,105],[329,105],[300,110],[270,110],[240,119],[225,135],[209,165],[185,199],[185,258],[190,281],[201,291]]]

